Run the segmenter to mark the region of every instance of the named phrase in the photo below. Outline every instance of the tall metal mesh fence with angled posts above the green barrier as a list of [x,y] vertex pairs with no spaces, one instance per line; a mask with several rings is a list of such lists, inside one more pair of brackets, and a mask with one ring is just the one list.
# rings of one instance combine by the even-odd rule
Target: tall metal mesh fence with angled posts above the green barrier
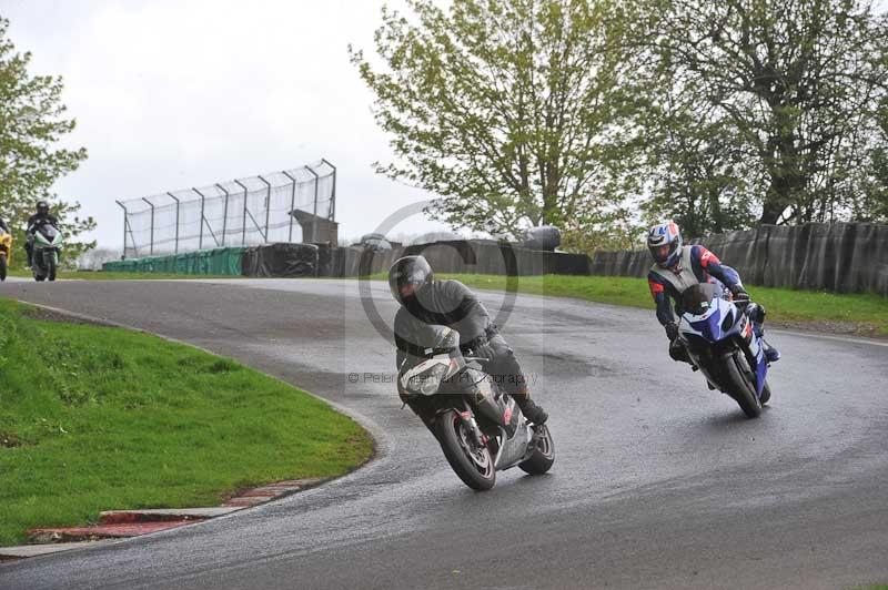
[[123,256],[271,242],[316,242],[336,215],[336,167],[311,165],[117,201]]

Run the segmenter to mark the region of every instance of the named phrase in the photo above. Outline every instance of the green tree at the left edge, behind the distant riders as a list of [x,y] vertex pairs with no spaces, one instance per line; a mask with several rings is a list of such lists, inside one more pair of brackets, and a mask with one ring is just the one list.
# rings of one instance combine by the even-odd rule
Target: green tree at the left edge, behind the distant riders
[[[65,119],[60,78],[31,75],[30,53],[19,53],[8,38],[9,21],[0,18],[0,216],[23,241],[27,218],[36,204],[47,200],[64,224],[69,238],[95,227],[92,217],[80,217],[79,203],[61,201],[51,192],[53,183],[77,170],[87,157],[83,148],[59,148],[59,141],[74,129]],[[23,242],[19,242],[23,243]],[[95,243],[67,241],[67,256],[74,260]],[[13,262],[22,257],[13,257]]]

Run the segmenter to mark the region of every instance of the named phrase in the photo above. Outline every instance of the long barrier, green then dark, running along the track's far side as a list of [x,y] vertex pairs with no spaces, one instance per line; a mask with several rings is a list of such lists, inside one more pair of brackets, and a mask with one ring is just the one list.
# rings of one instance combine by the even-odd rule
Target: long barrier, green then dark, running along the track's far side
[[[888,225],[809,223],[763,225],[692,240],[740,273],[745,283],[888,296]],[[326,243],[278,243],[214,248],[105,263],[107,272],[220,276],[346,277],[385,273],[401,256],[422,254],[440,273],[542,275],[647,275],[646,250],[567,254],[492,240],[451,240],[386,251]]]

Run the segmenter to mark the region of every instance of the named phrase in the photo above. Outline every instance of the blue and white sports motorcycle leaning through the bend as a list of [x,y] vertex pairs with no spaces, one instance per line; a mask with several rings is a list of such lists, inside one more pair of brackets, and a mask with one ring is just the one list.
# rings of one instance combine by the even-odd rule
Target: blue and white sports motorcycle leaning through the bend
[[756,304],[729,301],[722,285],[703,283],[682,294],[678,342],[695,370],[706,376],[709,389],[729,395],[748,418],[761,414],[770,399],[768,363]]

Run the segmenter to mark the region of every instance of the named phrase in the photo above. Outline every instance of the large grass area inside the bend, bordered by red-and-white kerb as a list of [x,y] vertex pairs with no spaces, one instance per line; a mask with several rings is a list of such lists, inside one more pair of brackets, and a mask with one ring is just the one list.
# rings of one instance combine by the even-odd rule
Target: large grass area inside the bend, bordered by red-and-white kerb
[[238,488],[345,474],[351,418],[232,360],[0,298],[0,546],[101,510],[215,506]]

